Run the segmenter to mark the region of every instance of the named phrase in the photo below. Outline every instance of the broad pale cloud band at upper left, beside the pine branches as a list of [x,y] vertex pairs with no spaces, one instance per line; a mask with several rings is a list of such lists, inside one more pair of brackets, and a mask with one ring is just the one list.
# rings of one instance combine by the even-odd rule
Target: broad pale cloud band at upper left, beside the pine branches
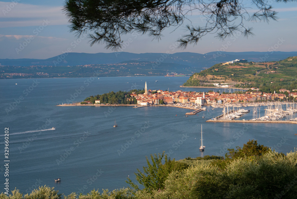
[[62,7],[39,6],[0,1],[0,27],[40,26],[43,20],[50,25],[65,25],[68,20]]

